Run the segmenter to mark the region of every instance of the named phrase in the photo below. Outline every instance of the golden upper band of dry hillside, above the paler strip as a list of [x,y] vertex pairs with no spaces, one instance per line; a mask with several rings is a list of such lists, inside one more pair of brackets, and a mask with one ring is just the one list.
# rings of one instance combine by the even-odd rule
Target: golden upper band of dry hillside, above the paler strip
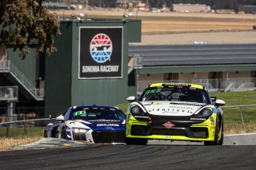
[[[60,17],[86,14],[88,18],[122,18],[124,10],[55,10]],[[139,11],[130,18],[142,20],[142,34],[178,34],[253,30],[256,15],[210,13],[152,13]]]

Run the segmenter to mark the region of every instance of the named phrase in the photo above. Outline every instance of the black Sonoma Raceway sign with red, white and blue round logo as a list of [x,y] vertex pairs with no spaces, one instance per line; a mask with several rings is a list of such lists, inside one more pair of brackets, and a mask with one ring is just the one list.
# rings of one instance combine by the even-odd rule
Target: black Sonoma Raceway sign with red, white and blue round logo
[[122,27],[80,27],[78,79],[122,78]]

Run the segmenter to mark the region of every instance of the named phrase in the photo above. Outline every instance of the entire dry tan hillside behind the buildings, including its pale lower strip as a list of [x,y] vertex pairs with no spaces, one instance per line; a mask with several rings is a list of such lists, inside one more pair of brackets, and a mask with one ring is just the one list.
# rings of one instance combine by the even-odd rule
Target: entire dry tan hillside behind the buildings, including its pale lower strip
[[[54,10],[59,17],[85,14],[87,18],[122,18],[124,10]],[[211,13],[152,13],[136,11],[142,20],[141,44],[256,43],[256,15]]]

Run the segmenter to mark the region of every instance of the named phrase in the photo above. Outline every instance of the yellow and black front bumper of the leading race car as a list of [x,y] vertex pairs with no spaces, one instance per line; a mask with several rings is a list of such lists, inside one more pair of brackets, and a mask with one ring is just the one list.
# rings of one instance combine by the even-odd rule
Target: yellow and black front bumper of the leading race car
[[[189,140],[214,141],[216,114],[204,121],[177,119],[174,117],[150,117],[150,121],[138,121],[130,115],[126,121],[126,137],[146,138],[149,140]],[[166,128],[163,124],[171,122],[174,127]]]

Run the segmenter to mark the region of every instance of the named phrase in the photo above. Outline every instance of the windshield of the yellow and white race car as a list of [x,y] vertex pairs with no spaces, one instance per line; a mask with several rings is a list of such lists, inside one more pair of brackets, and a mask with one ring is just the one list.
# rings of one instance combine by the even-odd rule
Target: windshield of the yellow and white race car
[[170,87],[148,88],[140,101],[189,101],[210,104],[210,97],[203,89],[178,89]]

